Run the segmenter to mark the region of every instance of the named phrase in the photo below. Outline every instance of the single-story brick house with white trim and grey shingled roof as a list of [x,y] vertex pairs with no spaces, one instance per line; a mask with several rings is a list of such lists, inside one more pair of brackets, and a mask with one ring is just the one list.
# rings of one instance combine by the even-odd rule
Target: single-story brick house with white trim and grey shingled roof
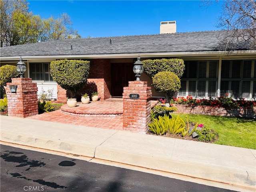
[[[228,95],[234,99],[256,100],[256,50],[234,42],[226,51],[225,31],[166,33],[139,36],[64,39],[0,48],[0,64],[16,65],[22,56],[28,70],[25,77],[37,83],[38,94],[52,92],[58,102],[65,92],[52,80],[50,62],[59,59],[90,61],[90,74],[84,92],[97,91],[102,100],[122,97],[123,87],[134,81],[132,71],[138,55],[141,60],[181,58],[185,71],[177,96],[209,98]],[[140,80],[152,80],[142,74]],[[81,92],[82,93],[82,92]],[[152,97],[164,96],[152,87]]]

